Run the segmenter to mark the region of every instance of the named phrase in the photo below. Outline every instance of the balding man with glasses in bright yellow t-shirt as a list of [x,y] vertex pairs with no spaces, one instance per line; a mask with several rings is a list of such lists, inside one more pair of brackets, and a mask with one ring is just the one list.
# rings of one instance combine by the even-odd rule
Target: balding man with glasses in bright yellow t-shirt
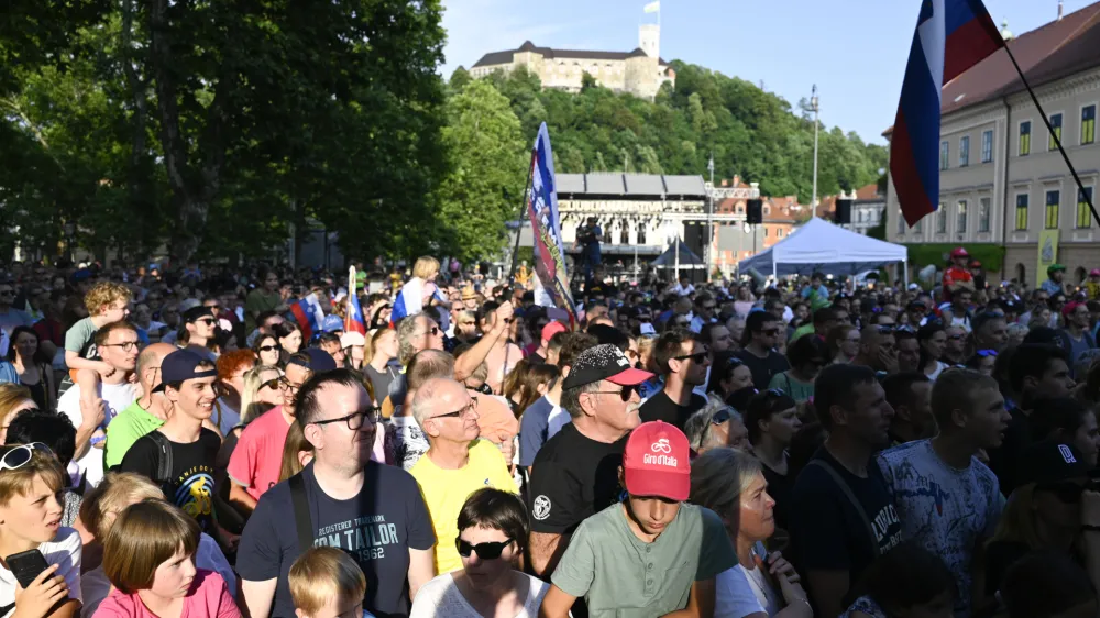
[[409,472],[436,530],[436,572],[462,569],[454,547],[459,511],[470,494],[482,487],[516,493],[508,465],[496,444],[479,440],[477,399],[453,379],[437,378],[417,389],[413,417],[428,438],[428,452]]

